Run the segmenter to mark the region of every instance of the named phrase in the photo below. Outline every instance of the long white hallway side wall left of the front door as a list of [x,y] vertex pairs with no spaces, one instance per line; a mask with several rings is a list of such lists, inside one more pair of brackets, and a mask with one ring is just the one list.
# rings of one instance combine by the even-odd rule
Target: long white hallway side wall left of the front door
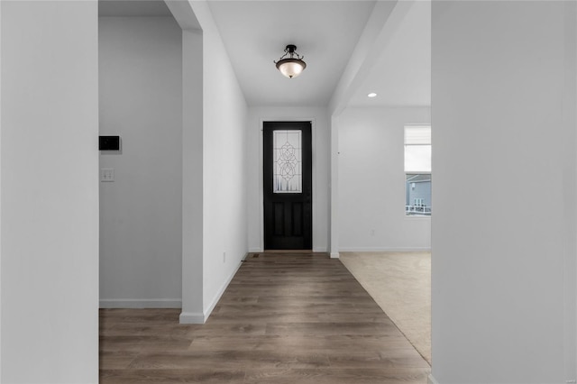
[[[247,106],[220,36],[204,31],[204,308],[246,255]],[[225,253],[225,256],[224,256]]]

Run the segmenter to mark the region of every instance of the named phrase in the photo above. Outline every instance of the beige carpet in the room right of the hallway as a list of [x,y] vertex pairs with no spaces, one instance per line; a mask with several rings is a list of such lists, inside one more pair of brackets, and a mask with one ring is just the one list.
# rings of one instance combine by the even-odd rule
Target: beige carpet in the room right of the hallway
[[341,261],[431,364],[431,253],[341,252]]

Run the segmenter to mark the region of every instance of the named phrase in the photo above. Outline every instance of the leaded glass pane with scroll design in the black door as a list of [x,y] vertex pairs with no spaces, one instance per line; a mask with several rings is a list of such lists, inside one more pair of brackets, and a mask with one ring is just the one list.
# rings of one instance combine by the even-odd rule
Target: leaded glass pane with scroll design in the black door
[[273,131],[273,192],[303,191],[302,142],[300,131]]

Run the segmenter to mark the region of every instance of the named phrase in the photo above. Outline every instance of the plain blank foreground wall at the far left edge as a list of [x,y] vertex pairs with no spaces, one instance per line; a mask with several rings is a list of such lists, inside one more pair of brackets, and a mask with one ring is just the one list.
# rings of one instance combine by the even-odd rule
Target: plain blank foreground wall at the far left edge
[[97,4],[2,2],[2,377],[98,381]]

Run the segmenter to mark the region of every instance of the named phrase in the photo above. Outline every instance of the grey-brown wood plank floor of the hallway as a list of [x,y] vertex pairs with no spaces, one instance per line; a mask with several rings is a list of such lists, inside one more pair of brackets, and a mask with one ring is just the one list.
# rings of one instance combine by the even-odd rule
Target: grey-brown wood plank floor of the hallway
[[205,325],[100,311],[101,383],[425,384],[429,365],[338,260],[260,253]]

